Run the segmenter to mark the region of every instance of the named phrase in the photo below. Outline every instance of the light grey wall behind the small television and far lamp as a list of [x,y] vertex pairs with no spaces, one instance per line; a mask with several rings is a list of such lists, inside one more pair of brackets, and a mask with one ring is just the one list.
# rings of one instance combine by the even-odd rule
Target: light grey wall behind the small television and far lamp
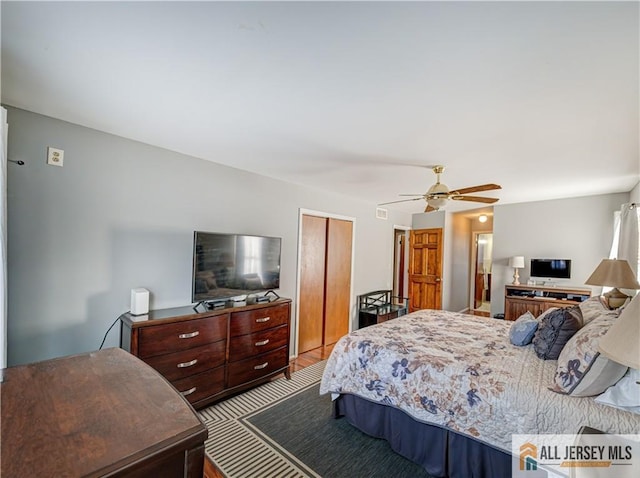
[[[513,282],[511,256],[524,256],[520,283],[529,279],[532,257],[571,259],[571,279],[558,285],[584,284],[600,261],[609,256],[613,216],[629,201],[629,193],[494,206],[492,315],[504,311],[504,286]],[[600,293],[600,288],[593,288]]]

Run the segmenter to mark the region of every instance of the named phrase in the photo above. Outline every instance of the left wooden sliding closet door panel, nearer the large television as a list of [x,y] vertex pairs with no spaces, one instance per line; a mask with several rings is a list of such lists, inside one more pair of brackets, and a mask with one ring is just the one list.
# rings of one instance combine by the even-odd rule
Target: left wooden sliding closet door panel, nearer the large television
[[322,345],[327,220],[302,216],[298,352]]

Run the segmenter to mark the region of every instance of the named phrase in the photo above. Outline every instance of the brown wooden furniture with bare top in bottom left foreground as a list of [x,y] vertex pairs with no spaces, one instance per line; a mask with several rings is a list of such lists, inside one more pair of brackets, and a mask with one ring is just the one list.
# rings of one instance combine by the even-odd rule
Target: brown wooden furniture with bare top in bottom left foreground
[[128,352],[106,349],[3,372],[3,478],[202,477],[205,426]]

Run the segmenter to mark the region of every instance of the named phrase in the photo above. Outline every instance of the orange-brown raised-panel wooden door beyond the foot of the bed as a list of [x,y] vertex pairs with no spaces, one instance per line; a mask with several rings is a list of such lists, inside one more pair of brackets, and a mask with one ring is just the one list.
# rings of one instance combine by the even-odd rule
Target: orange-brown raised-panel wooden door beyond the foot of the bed
[[409,311],[442,308],[442,229],[409,237]]

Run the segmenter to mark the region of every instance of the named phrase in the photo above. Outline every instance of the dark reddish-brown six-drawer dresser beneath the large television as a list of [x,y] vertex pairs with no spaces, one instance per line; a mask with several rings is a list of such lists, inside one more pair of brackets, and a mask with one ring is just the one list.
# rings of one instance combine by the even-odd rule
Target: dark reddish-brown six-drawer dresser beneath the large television
[[195,408],[289,373],[291,300],[124,314],[120,346],[155,368]]

